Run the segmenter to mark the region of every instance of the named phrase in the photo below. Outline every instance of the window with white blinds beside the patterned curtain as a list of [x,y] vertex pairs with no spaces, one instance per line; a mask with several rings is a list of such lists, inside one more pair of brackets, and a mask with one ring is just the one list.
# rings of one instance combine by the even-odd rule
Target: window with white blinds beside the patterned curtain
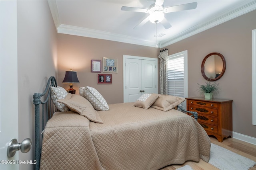
[[[188,97],[188,51],[168,56],[168,88],[169,95]],[[182,103],[186,109],[186,102]]]

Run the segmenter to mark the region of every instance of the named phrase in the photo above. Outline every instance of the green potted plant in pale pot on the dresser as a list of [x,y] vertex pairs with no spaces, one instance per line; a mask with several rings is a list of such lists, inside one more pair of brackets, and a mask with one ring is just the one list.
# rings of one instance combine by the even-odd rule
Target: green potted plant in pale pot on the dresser
[[204,94],[205,99],[212,99],[213,92],[218,92],[219,83],[205,82],[205,85],[199,85],[199,91]]

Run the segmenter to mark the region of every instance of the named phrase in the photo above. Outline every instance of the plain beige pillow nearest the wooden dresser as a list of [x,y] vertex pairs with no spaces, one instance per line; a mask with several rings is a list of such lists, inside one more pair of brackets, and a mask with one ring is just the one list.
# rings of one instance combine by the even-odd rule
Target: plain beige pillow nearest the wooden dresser
[[178,106],[185,100],[185,98],[180,98],[177,96],[160,95],[159,98],[156,100],[156,102],[154,102],[154,104],[151,107],[162,111],[168,111]]

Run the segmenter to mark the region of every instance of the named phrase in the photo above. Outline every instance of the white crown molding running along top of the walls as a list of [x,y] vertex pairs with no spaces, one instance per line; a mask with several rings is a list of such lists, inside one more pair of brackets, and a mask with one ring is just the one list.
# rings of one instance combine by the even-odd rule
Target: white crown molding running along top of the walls
[[[63,25],[60,23],[60,18],[58,15],[58,6],[56,4],[56,0],[48,0],[48,4],[49,4],[50,11],[52,13],[52,18],[54,20],[54,24],[58,33],[77,35],[82,37],[91,37],[91,38],[97,38],[97,39],[105,39],[110,41],[118,41],[122,43],[130,43],[130,44],[143,45],[148,47],[156,47],[155,41],[153,42],[153,41],[148,41],[146,39],[139,39],[137,37],[109,33],[106,31],[99,31],[99,30],[88,29],[83,27]],[[183,31],[178,35],[175,35],[174,37],[158,42],[160,44],[159,48],[164,48],[168,45],[171,45],[173,43],[186,39],[192,35],[196,35],[197,33],[210,29],[226,21],[232,20],[233,18],[236,18],[248,12],[251,12],[252,10],[255,10],[255,9],[256,9],[256,0],[250,3],[246,2],[236,10],[230,10],[229,12],[220,14],[219,16],[216,16],[216,18],[214,18],[213,20],[207,23],[196,25],[190,29],[187,29],[186,31]]]

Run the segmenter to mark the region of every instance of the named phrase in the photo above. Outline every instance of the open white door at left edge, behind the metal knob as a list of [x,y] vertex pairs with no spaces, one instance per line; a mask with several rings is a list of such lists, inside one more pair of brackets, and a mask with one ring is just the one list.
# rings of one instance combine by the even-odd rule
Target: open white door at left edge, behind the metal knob
[[0,1],[0,169],[18,170],[19,153],[9,158],[7,146],[18,139],[17,0]]

